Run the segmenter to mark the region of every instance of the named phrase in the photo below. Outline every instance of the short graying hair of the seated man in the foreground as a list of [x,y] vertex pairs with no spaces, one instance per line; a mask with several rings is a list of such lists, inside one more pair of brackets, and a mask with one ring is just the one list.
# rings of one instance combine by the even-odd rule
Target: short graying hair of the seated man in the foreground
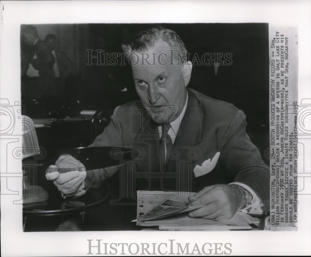
[[156,42],[166,42],[173,50],[173,56],[177,58],[178,63],[184,63],[187,59],[187,50],[183,41],[174,30],[166,29],[162,26],[156,26],[141,30],[135,34],[132,40],[126,44],[125,53],[128,55],[135,51],[142,51],[151,48]]

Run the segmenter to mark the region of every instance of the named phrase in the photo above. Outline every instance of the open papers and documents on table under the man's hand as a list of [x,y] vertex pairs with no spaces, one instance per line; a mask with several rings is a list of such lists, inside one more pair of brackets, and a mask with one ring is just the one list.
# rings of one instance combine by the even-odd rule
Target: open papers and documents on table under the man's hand
[[191,218],[188,212],[201,208],[189,203],[189,192],[137,191],[138,226],[158,226],[160,230],[240,230],[252,229],[259,219],[237,212],[230,219]]

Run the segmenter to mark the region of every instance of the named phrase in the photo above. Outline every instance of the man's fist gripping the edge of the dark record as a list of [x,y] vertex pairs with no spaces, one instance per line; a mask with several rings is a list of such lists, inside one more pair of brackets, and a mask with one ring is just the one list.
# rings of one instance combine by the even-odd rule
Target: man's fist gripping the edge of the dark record
[[[59,169],[71,171],[60,173]],[[86,178],[85,167],[71,155],[62,155],[58,158],[55,165],[50,165],[46,170],[45,177],[52,180],[59,191],[65,195],[76,193],[82,182]]]

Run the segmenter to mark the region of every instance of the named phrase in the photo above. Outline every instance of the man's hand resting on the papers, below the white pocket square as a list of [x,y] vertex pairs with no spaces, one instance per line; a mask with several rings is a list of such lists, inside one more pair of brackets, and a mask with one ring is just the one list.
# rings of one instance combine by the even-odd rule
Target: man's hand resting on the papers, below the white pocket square
[[235,184],[207,186],[189,200],[199,200],[201,204],[206,205],[190,212],[189,216],[207,219],[231,218],[246,204],[243,188]]

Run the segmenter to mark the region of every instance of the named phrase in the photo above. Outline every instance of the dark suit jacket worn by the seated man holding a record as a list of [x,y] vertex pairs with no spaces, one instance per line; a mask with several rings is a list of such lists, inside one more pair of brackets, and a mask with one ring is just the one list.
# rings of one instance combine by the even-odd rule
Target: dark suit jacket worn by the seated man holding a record
[[[131,114],[133,103],[126,103],[115,109],[112,121],[90,146],[123,146],[142,147],[145,156],[136,160],[136,172],[159,172],[160,147],[159,135],[155,129],[157,140],[144,131],[141,115]],[[269,168],[261,159],[260,153],[250,141],[245,131],[244,113],[232,104],[214,100],[193,89],[188,89],[188,105],[179,127],[173,148],[179,151],[177,162],[191,159],[191,190],[202,190],[205,186],[240,182],[252,188],[262,203],[269,200]],[[151,133],[152,134],[152,133]],[[189,155],[189,147],[199,149],[198,156]],[[202,165],[205,160],[212,159],[217,152],[220,157],[216,167],[209,173],[195,177],[193,169]],[[180,163],[180,162],[179,162]],[[176,171],[176,159],[169,160],[165,172]],[[96,172],[87,173],[87,187],[100,179]],[[155,179],[156,180],[156,179]],[[145,181],[145,185],[143,185]],[[160,189],[176,190],[175,178],[163,178]],[[159,182],[159,181],[158,181]],[[137,182],[137,190],[159,189],[156,183],[148,178]],[[159,184],[159,183],[158,183]],[[156,185],[155,187],[153,187]],[[188,188],[186,188],[188,190]],[[265,204],[265,212],[269,204]]]

